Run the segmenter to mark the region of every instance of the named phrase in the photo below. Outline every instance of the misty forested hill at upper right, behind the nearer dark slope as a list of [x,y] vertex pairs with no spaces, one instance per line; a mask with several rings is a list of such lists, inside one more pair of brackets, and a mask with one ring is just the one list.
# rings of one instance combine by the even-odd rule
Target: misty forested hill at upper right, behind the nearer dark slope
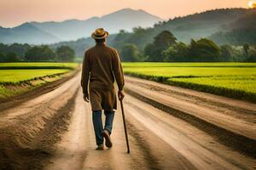
[[253,14],[253,10],[247,8],[209,10],[169,20],[155,26],[154,29],[156,31],[172,31],[178,41],[190,42],[191,38],[209,37],[213,33],[222,31],[224,25],[227,26],[247,14]]

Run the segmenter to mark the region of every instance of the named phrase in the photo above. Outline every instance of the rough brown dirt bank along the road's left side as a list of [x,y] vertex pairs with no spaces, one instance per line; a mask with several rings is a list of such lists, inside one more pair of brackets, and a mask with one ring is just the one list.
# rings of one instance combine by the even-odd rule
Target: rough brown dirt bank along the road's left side
[[[42,169],[44,158],[54,150],[52,144],[67,130],[68,119],[73,111],[78,86],[65,91],[68,84],[62,84],[60,88],[44,94],[44,97],[2,112],[0,169]],[[49,96],[51,98],[44,100]]]

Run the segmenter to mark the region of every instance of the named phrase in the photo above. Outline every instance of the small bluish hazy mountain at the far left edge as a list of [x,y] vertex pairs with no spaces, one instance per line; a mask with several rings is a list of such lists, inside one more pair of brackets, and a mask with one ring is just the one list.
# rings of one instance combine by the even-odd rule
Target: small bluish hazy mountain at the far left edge
[[30,23],[25,23],[15,28],[0,27],[0,42],[3,43],[50,43],[58,41],[60,41],[59,38],[32,26]]

